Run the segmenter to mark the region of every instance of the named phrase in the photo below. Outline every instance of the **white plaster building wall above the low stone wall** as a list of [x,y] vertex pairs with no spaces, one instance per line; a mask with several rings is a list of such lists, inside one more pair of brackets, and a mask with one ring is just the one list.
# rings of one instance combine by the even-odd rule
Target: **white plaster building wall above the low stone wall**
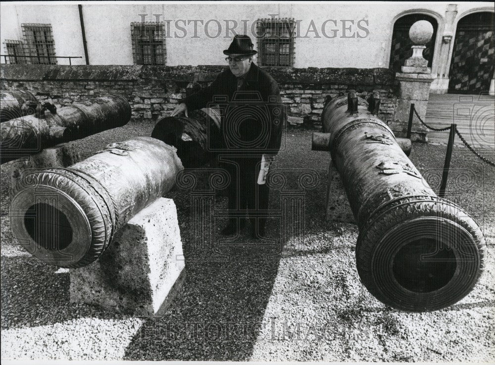
[[[457,17],[473,8],[493,7],[493,2],[456,2]],[[437,41],[442,36],[442,17],[445,16],[447,2],[340,2],[340,3],[197,3],[197,4],[84,4],[83,14],[88,41],[90,64],[133,64],[131,43],[131,22],[141,21],[139,14],[149,14],[147,21],[154,21],[152,14],[161,14],[160,20],[170,19],[172,37],[166,40],[167,65],[180,64],[225,64],[222,50],[231,41],[231,35],[226,38],[225,20],[238,22],[239,33],[242,30],[242,19],[249,20],[247,34],[251,36],[250,26],[258,18],[269,17],[269,14],[279,14],[280,17],[301,19],[301,36],[304,36],[314,21],[318,36],[314,32],[309,38],[297,38],[296,67],[388,67],[392,30],[396,17],[411,9],[421,9],[426,13],[437,14],[439,32]],[[77,5],[1,5],[1,42],[2,54],[5,52],[5,39],[21,39],[21,23],[51,23],[57,56],[83,56],[81,30]],[[184,25],[187,35],[175,27],[179,19],[220,21],[222,34],[217,38],[208,38],[204,26],[198,24],[197,38],[194,38],[194,24]],[[325,38],[321,26],[327,19],[337,20],[337,26],[328,22],[327,34],[332,35],[332,29],[337,31],[336,38]],[[364,19],[362,26],[369,30],[365,38],[342,38],[342,20],[352,20],[351,30],[347,34],[365,32],[357,28],[357,22]],[[349,26],[347,22],[347,26]],[[210,22],[208,28],[216,33],[215,22]],[[173,33],[177,32],[175,36]],[[356,33],[357,34],[357,33]],[[256,44],[256,42],[254,41]],[[256,47],[256,46],[255,46]],[[435,63],[434,59],[434,63]],[[3,62],[3,58],[2,61]],[[60,64],[68,61],[59,60]],[[84,64],[84,58],[73,62]]]

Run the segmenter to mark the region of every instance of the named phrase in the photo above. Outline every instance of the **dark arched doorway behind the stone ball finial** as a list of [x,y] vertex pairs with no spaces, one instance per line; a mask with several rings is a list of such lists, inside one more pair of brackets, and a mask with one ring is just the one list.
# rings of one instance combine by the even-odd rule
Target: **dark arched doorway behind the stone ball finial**
[[426,14],[409,14],[398,18],[394,24],[389,68],[396,72],[401,72],[400,67],[404,65],[404,61],[412,56],[412,42],[409,39],[409,29],[418,20],[428,20],[433,25],[432,39],[426,44],[426,49],[423,51],[423,57],[428,60],[428,67],[432,66],[438,22],[434,17]]

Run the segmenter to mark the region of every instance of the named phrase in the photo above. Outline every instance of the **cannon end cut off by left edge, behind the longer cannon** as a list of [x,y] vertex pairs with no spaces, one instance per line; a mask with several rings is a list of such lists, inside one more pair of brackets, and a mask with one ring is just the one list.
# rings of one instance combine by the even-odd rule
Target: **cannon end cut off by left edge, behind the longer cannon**
[[4,90],[0,92],[0,122],[34,114],[38,100],[29,91]]

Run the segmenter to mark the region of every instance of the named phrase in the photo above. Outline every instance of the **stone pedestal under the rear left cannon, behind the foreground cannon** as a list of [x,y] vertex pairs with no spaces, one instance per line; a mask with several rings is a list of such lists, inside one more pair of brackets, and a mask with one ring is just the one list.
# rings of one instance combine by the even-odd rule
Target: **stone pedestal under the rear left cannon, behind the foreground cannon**
[[81,156],[74,142],[58,144],[45,148],[35,155],[14,160],[10,165],[11,195],[15,193],[24,172],[52,167],[65,168],[79,161],[81,161]]

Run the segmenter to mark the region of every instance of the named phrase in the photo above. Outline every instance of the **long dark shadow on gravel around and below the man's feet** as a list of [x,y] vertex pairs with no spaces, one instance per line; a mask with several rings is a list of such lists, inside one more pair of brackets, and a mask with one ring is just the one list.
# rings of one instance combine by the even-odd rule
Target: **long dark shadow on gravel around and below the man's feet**
[[[226,208],[224,197],[217,196],[213,200],[215,207],[203,209],[199,219],[193,218],[192,207],[197,204],[192,202],[191,192],[178,189],[168,195],[176,203],[183,231],[186,279],[169,311],[144,322],[127,347],[125,360],[249,360],[260,331],[269,325],[263,322],[263,318],[278,273],[283,245],[301,232],[287,231],[287,222],[279,218],[286,214],[284,219],[292,219],[291,227],[296,223],[304,230],[308,217],[318,210],[314,204],[321,199],[309,200],[305,185],[297,187],[297,183],[288,183],[300,181],[308,171],[279,170],[279,185],[272,186],[270,192],[273,214],[268,220],[267,237],[271,241],[253,241],[249,236],[249,223],[237,238],[219,236],[226,219],[211,219],[208,215],[221,216],[217,213]],[[310,185],[313,189],[320,182],[318,177],[314,179]],[[205,187],[201,185],[204,181],[204,176],[198,178],[199,190]],[[309,191],[314,194],[314,190]],[[295,200],[290,200],[292,198]],[[297,211],[298,203],[287,208],[288,201],[297,199],[305,200],[301,205],[305,211]],[[191,233],[195,219],[213,222],[212,242],[206,235],[206,244],[198,245],[203,238],[199,240]],[[188,229],[183,230],[184,227]],[[282,235],[284,228],[287,234]]]

